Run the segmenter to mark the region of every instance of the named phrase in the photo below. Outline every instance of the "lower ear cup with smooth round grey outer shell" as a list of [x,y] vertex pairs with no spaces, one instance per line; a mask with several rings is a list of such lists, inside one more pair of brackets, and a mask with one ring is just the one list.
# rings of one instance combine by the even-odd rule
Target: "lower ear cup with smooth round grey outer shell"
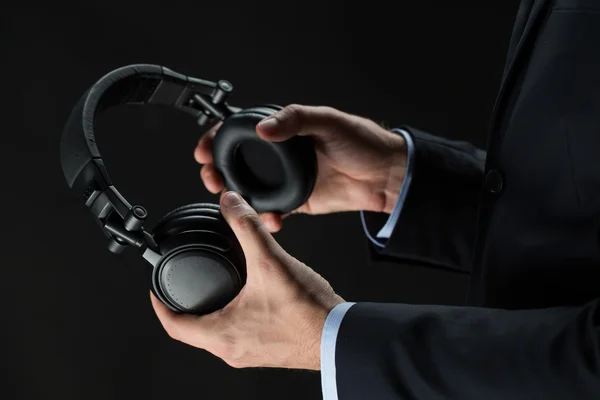
[[218,205],[179,207],[156,224],[152,237],[162,257],[152,270],[151,288],[172,310],[209,314],[244,286],[244,253]]

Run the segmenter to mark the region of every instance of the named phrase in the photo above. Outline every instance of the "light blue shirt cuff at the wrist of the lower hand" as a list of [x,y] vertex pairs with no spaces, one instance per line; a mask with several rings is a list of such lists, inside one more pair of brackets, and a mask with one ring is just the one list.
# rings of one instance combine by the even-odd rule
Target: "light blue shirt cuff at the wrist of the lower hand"
[[335,345],[344,315],[356,303],[335,306],[325,320],[321,335],[321,389],[323,400],[338,400],[335,373]]

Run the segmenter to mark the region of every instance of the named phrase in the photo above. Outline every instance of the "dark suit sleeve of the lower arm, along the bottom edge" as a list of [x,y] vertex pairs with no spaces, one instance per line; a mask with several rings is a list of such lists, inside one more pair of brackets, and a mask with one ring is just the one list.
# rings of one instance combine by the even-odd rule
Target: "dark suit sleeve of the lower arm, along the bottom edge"
[[597,400],[600,304],[539,310],[357,303],[324,400]]

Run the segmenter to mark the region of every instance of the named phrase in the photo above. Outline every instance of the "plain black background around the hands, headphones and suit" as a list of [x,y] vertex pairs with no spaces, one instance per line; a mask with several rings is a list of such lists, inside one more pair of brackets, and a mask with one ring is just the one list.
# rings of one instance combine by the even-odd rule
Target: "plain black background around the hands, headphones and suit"
[[[474,5],[474,4],[478,5]],[[67,191],[70,108],[131,63],[230,80],[230,102],[333,106],[484,146],[518,2],[70,2],[0,10],[3,399],[318,399],[317,373],[228,367],[171,340],[135,252],[110,254]],[[118,109],[100,122],[118,189],[152,225],[217,201],[193,119]],[[277,240],[349,301],[459,304],[466,276],[374,264],[358,214],[294,216]]]

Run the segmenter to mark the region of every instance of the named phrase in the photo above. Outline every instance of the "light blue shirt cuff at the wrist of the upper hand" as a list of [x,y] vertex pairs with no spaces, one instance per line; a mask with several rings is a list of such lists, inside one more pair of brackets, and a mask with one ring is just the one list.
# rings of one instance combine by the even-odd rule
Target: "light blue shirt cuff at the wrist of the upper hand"
[[408,194],[408,189],[410,187],[410,182],[412,180],[412,170],[414,164],[414,142],[412,137],[408,132],[403,129],[392,129],[392,132],[396,132],[401,134],[406,141],[406,150],[407,150],[407,162],[406,162],[406,174],[404,176],[404,181],[402,182],[402,187],[400,188],[400,194],[396,199],[396,203],[394,204],[394,209],[390,214],[388,220],[386,221],[383,228],[379,230],[377,235],[373,237],[369,230],[367,229],[367,223],[365,221],[365,214],[363,211],[360,212],[360,219],[362,221],[363,230],[365,231],[365,235],[369,240],[378,247],[385,247],[385,243],[377,239],[389,239],[396,227],[396,223],[398,222],[398,218],[400,218],[400,212],[402,211],[402,206],[404,205],[404,201]]

